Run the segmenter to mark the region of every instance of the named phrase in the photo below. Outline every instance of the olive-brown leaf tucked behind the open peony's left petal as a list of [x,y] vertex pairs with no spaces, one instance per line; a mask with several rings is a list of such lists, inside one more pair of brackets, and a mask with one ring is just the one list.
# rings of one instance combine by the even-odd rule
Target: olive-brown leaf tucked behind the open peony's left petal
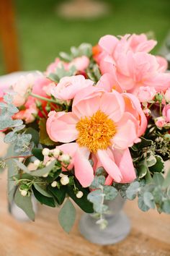
[[46,130],[46,119],[40,119],[39,121],[39,129],[40,129],[40,143],[46,146],[53,146],[56,144],[53,140],[50,140]]

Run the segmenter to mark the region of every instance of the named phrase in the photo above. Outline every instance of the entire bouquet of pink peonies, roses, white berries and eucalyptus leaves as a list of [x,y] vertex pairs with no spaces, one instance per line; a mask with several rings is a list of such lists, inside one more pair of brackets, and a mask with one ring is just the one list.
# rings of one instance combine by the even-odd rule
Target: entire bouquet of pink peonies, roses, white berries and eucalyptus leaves
[[9,169],[9,201],[30,219],[32,194],[62,205],[65,231],[72,201],[104,229],[105,202],[118,193],[138,196],[143,211],[170,213],[170,73],[166,59],[149,54],[155,45],[145,34],[105,35],[0,88],[0,130],[10,143],[0,166]]

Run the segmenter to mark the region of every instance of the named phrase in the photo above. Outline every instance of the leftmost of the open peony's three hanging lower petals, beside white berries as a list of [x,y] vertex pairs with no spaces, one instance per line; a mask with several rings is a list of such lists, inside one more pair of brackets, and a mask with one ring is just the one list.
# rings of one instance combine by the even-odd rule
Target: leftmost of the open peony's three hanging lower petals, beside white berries
[[78,148],[74,156],[75,176],[82,187],[89,187],[94,179],[94,170],[89,162],[89,150]]

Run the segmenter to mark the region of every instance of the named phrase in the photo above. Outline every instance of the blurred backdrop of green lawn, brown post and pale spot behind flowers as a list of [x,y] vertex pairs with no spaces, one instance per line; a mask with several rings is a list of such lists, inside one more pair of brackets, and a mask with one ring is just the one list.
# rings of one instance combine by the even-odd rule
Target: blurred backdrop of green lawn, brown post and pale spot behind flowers
[[169,37],[170,0],[0,0],[0,74],[45,70],[58,52],[105,34]]

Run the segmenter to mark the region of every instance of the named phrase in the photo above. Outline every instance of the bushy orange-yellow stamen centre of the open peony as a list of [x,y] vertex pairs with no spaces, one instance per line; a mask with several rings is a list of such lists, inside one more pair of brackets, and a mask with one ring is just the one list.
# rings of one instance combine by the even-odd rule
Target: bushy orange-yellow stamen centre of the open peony
[[105,150],[111,145],[110,140],[116,134],[116,127],[112,119],[109,119],[102,111],[97,111],[91,117],[81,118],[76,124],[79,137],[76,142],[81,147],[89,148],[90,152]]

